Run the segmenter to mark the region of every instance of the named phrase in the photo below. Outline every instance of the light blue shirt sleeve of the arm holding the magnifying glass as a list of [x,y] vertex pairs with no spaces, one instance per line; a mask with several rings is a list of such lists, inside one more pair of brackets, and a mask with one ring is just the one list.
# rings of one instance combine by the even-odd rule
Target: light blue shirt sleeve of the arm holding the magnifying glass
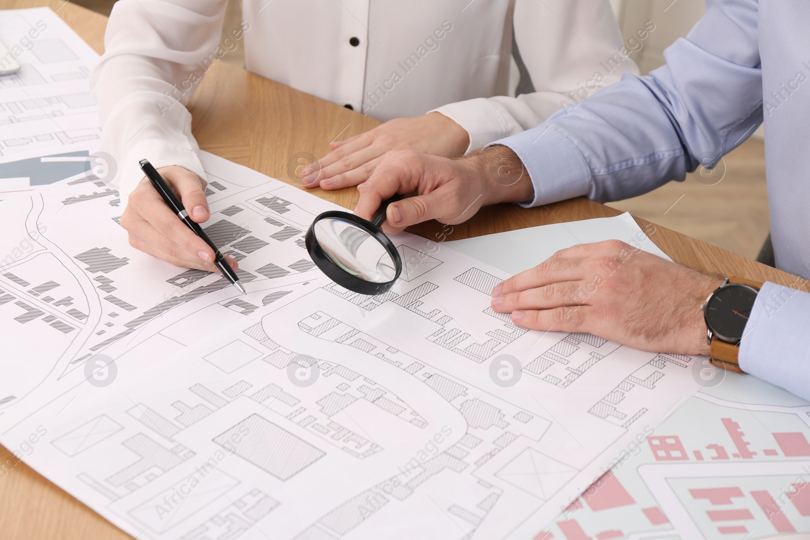
[[[664,57],[667,65],[649,75],[625,74],[538,127],[495,142],[525,158],[535,204],[578,195],[615,201],[683,181],[701,164],[714,167],[761,124],[757,2],[709,2],[689,36]],[[564,151],[570,170],[559,180],[551,175],[561,163],[548,155],[561,138],[548,133],[567,139],[581,156]]]

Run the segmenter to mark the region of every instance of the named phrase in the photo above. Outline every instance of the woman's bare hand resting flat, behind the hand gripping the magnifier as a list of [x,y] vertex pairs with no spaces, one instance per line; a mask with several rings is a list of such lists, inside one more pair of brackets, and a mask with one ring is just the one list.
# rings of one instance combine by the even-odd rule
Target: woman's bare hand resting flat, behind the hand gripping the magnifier
[[346,188],[368,180],[387,151],[414,150],[454,157],[462,155],[468,146],[467,130],[441,113],[394,118],[345,141],[332,142],[332,151],[301,169],[301,176],[308,188]]

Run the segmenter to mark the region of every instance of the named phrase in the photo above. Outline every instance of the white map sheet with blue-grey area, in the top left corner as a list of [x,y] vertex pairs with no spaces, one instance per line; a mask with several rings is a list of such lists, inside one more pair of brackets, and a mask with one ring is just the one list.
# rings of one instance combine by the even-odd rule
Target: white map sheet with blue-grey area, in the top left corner
[[0,76],[0,198],[84,176],[101,134],[87,83],[98,54],[48,7],[0,11],[0,40],[20,65]]

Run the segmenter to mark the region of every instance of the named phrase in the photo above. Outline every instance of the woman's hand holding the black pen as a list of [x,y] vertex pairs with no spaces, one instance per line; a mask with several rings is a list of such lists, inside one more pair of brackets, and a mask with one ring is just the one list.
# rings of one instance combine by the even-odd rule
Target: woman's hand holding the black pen
[[[191,219],[197,223],[207,221],[211,212],[199,176],[176,165],[157,171],[177,193]],[[135,249],[171,262],[174,266],[219,271],[213,264],[214,250],[169,210],[146,177],[130,193],[126,210],[121,216],[121,226],[130,233],[130,245]],[[225,258],[237,270],[237,261],[227,255]]]

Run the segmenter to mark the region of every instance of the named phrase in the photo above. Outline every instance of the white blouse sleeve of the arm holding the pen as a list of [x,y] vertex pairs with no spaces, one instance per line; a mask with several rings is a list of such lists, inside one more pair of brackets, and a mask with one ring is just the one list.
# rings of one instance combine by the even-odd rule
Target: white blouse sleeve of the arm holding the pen
[[[143,178],[138,161],[180,165],[205,180],[185,108],[217,58],[226,0],[120,0],[90,85],[102,125],[100,149],[115,160],[126,204]],[[235,42],[234,42],[235,43]]]

